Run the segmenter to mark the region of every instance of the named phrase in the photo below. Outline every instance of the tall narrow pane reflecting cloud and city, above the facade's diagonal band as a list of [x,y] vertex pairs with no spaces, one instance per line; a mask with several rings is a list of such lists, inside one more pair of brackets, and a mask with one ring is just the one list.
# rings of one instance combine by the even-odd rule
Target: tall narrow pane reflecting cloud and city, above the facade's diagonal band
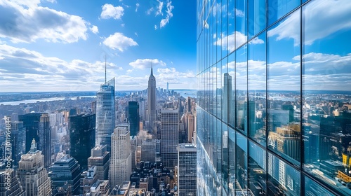
[[265,146],[266,139],[266,41],[265,32],[248,45],[249,136]]

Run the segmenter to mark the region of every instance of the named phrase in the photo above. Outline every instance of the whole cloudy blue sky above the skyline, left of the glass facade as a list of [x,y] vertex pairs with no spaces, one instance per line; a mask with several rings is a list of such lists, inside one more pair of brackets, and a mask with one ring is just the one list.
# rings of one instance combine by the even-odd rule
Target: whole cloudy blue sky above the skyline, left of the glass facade
[[0,89],[196,89],[196,1],[0,0]]

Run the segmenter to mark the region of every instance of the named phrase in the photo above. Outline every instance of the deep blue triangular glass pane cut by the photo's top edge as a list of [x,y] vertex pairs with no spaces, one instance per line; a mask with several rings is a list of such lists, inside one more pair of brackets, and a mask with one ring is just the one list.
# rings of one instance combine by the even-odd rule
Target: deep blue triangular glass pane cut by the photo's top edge
[[300,0],[268,0],[268,25],[272,25],[298,6]]

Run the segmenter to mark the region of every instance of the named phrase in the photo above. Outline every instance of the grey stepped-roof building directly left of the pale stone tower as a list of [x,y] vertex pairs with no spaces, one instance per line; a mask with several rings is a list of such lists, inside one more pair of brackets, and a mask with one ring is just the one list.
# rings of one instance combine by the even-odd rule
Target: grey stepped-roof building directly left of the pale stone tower
[[91,156],[88,158],[88,168],[96,167],[97,178],[108,180],[110,170],[110,152],[107,146],[95,146],[91,149]]

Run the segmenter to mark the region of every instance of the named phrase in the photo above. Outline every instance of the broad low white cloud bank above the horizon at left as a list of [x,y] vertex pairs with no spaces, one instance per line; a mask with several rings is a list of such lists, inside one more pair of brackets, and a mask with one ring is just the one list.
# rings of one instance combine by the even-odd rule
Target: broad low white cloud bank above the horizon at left
[[[105,62],[70,62],[57,57],[46,57],[40,52],[0,45],[1,89],[12,90],[91,90],[98,89],[105,78]],[[121,67],[107,63],[107,76]],[[5,85],[6,83],[6,85]],[[22,89],[19,89],[23,87]],[[42,89],[45,90],[45,89]]]

